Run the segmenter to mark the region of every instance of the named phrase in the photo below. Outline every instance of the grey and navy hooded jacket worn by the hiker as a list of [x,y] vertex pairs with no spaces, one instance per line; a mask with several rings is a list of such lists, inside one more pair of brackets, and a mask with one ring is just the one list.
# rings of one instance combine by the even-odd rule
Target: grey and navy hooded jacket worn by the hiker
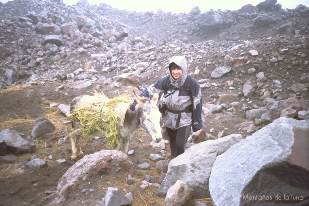
[[[187,126],[192,124],[192,127],[196,130],[202,128],[202,120],[201,120],[201,112],[202,112],[202,100],[201,100],[201,89],[200,85],[196,81],[196,79],[192,78],[190,83],[190,90],[193,96],[193,105],[190,96],[185,91],[184,82],[186,80],[188,74],[188,64],[185,57],[182,56],[174,56],[171,58],[169,62],[169,68],[171,63],[175,63],[179,65],[182,69],[182,76],[175,80],[172,77],[171,71],[170,74],[166,77],[159,79],[154,84],[150,85],[148,88],[144,89],[141,93],[142,96],[150,98],[154,95],[154,93],[159,93],[159,96],[163,95],[165,91],[165,85],[167,82],[167,78],[171,79],[171,85],[173,88],[178,89],[170,89],[170,95],[164,94],[161,97],[162,101],[166,104],[167,110],[162,114],[163,123],[171,129],[178,129],[183,126]],[[192,105],[192,106],[191,106]],[[192,108],[192,112],[185,112],[184,110],[188,110],[188,107]],[[172,111],[183,111],[180,113],[172,112]],[[177,125],[177,119],[181,115],[179,125]]]

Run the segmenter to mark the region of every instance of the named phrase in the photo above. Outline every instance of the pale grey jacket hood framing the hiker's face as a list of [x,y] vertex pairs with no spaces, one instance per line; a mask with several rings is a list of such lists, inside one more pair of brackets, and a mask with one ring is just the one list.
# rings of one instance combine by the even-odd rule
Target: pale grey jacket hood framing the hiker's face
[[[175,80],[171,74],[171,70],[170,70],[170,65],[171,63],[175,63],[176,65],[180,66],[182,69],[182,76]],[[169,64],[168,64],[168,70],[170,73],[170,78],[171,78],[171,84],[173,86],[176,86],[177,88],[179,88],[180,86],[184,85],[184,82],[186,81],[187,78],[187,74],[188,74],[188,63],[187,63],[187,59],[185,57],[182,56],[174,56],[171,58]]]

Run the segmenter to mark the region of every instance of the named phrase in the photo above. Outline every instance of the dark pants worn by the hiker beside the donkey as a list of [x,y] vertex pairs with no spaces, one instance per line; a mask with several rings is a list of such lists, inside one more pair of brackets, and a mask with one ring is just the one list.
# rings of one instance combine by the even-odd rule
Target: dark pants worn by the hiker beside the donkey
[[184,147],[191,131],[191,124],[178,129],[171,129],[167,127],[166,131],[170,141],[171,155],[177,157],[178,155],[184,153]]

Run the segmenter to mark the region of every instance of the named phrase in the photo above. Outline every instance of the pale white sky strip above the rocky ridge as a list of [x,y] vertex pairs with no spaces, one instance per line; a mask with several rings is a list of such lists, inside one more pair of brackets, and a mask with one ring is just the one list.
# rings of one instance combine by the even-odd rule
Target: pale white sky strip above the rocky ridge
[[[8,0],[0,0],[7,2]],[[44,0],[43,0],[44,1]],[[66,4],[76,4],[78,0],[62,0]],[[201,12],[209,11],[210,9],[222,11],[237,10],[243,5],[252,4],[256,6],[263,0],[88,0],[91,5],[99,5],[100,2],[111,5],[113,8],[127,11],[154,11],[161,9],[164,12],[171,11],[172,13],[189,13],[194,6],[198,6]],[[282,5],[282,9],[294,9],[299,4],[309,7],[309,0],[277,0],[277,3]]]

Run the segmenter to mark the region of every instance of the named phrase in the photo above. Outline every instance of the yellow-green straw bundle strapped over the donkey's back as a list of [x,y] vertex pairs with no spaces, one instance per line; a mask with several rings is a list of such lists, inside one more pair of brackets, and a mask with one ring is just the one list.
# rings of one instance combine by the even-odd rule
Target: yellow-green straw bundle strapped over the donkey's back
[[95,131],[101,132],[107,138],[106,149],[120,149],[119,126],[114,108],[118,102],[132,103],[133,99],[127,94],[108,99],[105,95],[98,92],[95,97],[102,100],[90,106],[78,106],[69,116],[73,120],[78,120],[82,128],[82,135],[93,135]]

